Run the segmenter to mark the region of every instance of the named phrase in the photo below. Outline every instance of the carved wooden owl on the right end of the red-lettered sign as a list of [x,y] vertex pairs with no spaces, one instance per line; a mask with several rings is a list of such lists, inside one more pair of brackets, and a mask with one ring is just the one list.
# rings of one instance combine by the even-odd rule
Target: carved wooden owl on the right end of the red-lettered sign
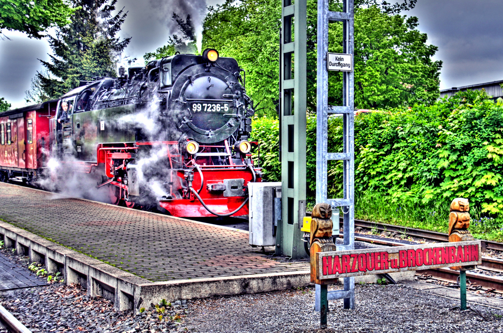
[[[470,226],[470,204],[468,199],[456,198],[451,202],[451,213],[449,214],[449,241],[473,240],[473,236],[468,231]],[[453,266],[451,270],[468,271],[475,269],[475,266]]]

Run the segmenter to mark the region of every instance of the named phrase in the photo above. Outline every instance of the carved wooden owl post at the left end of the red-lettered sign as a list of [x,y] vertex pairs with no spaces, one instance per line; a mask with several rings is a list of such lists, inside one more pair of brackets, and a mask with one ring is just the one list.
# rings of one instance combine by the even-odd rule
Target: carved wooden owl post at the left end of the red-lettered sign
[[309,255],[311,261],[311,282],[316,284],[334,284],[337,279],[316,280],[314,270],[317,252],[336,251],[332,241],[332,207],[330,204],[317,204],[311,212],[311,233]]

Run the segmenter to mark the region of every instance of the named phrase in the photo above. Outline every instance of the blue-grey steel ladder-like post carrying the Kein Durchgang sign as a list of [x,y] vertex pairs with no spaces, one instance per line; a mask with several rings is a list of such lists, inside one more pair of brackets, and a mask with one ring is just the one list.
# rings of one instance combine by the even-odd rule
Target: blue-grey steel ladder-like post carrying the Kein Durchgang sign
[[[328,22],[343,22],[343,54],[328,53]],[[328,0],[318,0],[317,92],[316,92],[316,203],[342,207],[344,244],[338,251],[355,248],[355,139],[354,139],[354,0],[344,0],[343,12],[328,11]],[[337,61],[336,61],[337,60]],[[348,71],[351,64],[351,71]],[[327,62],[331,62],[327,63]],[[343,105],[328,105],[328,69],[343,71]],[[343,152],[328,152],[328,115],[343,115]],[[327,161],[343,160],[342,199],[327,198]],[[315,309],[320,311],[321,287],[316,285]],[[355,308],[355,278],[344,278],[344,290],[327,293],[327,299],[344,299],[345,309]]]

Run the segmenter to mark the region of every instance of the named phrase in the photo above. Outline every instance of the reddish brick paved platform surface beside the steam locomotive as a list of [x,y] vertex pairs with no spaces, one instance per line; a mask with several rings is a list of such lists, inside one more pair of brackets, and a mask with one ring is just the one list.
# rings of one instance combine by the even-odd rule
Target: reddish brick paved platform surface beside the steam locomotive
[[308,270],[248,245],[248,234],[0,183],[0,219],[150,281]]

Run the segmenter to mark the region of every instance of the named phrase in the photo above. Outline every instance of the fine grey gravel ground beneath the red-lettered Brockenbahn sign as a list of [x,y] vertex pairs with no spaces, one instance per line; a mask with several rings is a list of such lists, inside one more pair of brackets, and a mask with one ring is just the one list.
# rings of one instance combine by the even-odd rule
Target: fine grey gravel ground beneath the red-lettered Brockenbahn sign
[[[319,329],[314,288],[190,301],[188,328],[199,332],[502,332],[503,310],[428,294],[404,285],[356,286],[355,310],[329,301],[328,326]],[[452,309],[452,310],[451,310]],[[485,319],[483,317],[485,317]]]

